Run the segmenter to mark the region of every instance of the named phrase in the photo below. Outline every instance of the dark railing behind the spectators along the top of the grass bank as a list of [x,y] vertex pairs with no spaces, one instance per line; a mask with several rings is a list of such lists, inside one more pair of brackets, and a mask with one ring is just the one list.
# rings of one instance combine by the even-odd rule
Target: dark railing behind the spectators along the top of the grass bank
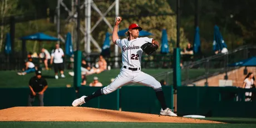
[[[21,70],[24,67],[24,61],[26,58],[22,56],[14,55],[12,57],[0,55],[0,71],[1,70]],[[99,60],[100,54],[92,54],[90,56],[83,56],[83,59],[87,61],[91,66],[95,66],[95,63]],[[117,66],[115,65],[117,60]],[[111,68],[120,68],[122,66],[122,57],[121,56],[107,56],[104,57],[107,65],[111,66]],[[172,55],[151,55],[142,56],[141,67],[143,68],[171,68],[171,60]],[[33,58],[33,63],[37,66],[44,67],[40,58]],[[73,59],[70,57],[64,58],[65,68],[72,69],[73,68]],[[51,65],[49,65],[51,67]]]

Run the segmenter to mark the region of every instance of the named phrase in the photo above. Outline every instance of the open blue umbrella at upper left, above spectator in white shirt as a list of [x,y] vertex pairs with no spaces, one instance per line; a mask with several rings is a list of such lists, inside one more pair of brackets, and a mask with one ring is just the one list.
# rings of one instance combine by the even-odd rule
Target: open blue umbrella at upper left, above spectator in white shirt
[[38,32],[32,35],[21,37],[21,40],[32,40],[32,41],[58,41],[58,38],[46,35]]

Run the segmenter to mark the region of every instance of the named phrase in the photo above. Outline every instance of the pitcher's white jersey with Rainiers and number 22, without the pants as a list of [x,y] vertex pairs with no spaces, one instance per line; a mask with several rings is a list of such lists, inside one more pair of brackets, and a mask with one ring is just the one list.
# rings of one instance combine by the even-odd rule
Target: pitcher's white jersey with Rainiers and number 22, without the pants
[[127,40],[126,38],[116,40],[116,45],[122,50],[122,65],[132,68],[140,67],[142,49],[140,48],[147,42],[152,43],[153,38],[138,37],[134,40]]

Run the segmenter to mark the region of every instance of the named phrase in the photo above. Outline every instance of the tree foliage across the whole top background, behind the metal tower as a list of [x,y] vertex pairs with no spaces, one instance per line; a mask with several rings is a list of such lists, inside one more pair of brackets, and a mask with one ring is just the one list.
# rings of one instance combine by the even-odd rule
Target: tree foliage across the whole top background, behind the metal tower
[[[54,16],[56,14],[57,1],[52,0],[2,0],[3,2],[12,2],[13,6],[10,8],[8,14],[36,14],[37,16],[49,16],[51,22],[47,22],[46,19],[22,22],[16,24],[16,42],[18,38],[25,34],[31,34],[33,32],[46,32],[52,36],[56,36],[56,26],[53,23]],[[71,10],[71,1],[63,0],[66,6]],[[84,0],[81,0],[83,4]],[[104,13],[109,6],[115,2],[114,0],[94,0],[97,7]],[[214,25],[217,24],[220,28],[220,32],[223,35],[225,42],[229,49],[234,49],[237,46],[244,43],[254,43],[256,41],[256,17],[254,12],[256,8],[254,5],[256,1],[252,0],[199,0],[199,28],[201,48],[203,51],[209,52],[212,50]],[[0,6],[0,7],[1,7]],[[181,47],[184,47],[185,43],[193,42],[194,40],[194,14],[195,14],[195,0],[187,1],[180,0],[181,7]],[[47,15],[47,9],[50,10],[50,14]],[[151,36],[156,40],[161,41],[161,30],[167,29],[168,40],[170,50],[173,45],[171,40],[176,41],[176,16],[150,16],[150,14],[159,13],[175,13],[176,0],[120,0],[120,16],[123,16],[124,21],[120,24],[120,29],[127,28],[131,23],[138,23],[146,31],[153,33]],[[84,22],[85,9],[81,9],[81,26],[85,26]],[[147,16],[148,14],[148,16]],[[130,18],[126,18],[129,15]],[[141,17],[141,16],[144,17]],[[133,17],[132,17],[133,16]],[[2,13],[0,18],[6,17]],[[68,23],[65,19],[68,17],[68,13],[65,8],[61,6],[61,35],[65,37],[67,32],[75,29],[74,23]],[[91,26],[93,26],[100,15],[92,8]],[[114,25],[115,20],[115,7],[112,8],[107,19],[110,24]],[[9,31],[8,26],[4,26],[4,31],[0,33],[6,33]],[[106,32],[112,32],[111,29],[101,21],[99,26],[92,32],[92,36],[95,40],[102,45]],[[81,33],[81,39],[83,35]],[[123,38],[123,37],[122,37]],[[74,41],[75,42],[75,41]],[[20,43],[16,45],[20,46]],[[96,51],[96,48],[91,45],[92,51]],[[2,46],[3,47],[3,46]],[[30,47],[30,46],[29,46]],[[83,44],[81,44],[81,48]],[[113,46],[112,46],[113,47]],[[21,48],[16,48],[20,50]]]

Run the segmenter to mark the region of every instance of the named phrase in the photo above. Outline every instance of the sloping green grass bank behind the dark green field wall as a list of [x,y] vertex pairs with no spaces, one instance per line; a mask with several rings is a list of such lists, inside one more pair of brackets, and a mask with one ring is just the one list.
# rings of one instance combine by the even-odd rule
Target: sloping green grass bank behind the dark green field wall
[[[48,81],[49,87],[66,87],[66,85],[73,85],[73,77],[68,75],[68,72],[71,70],[66,70],[65,75],[66,78],[59,78],[55,80],[54,72],[50,71],[43,71],[42,76],[46,78]],[[157,74],[172,71],[172,69],[142,69],[143,72],[148,73],[151,76],[155,76]],[[214,73],[218,71],[218,69],[210,69],[209,73]],[[99,81],[104,85],[109,85],[111,78],[115,78],[120,72],[120,69],[112,69],[110,71],[105,71],[100,74],[93,74],[87,76],[87,85],[93,81],[93,77],[99,77]],[[181,70],[181,81],[185,81],[186,79],[186,70]],[[35,73],[29,73],[25,76],[17,75],[16,71],[0,71],[0,88],[1,87],[27,87],[29,78],[31,78]],[[205,75],[205,70],[201,69],[189,69],[188,71],[189,79],[193,79],[202,75]],[[173,84],[173,73],[169,75],[161,75],[155,77],[157,81],[166,80],[168,85]]]

